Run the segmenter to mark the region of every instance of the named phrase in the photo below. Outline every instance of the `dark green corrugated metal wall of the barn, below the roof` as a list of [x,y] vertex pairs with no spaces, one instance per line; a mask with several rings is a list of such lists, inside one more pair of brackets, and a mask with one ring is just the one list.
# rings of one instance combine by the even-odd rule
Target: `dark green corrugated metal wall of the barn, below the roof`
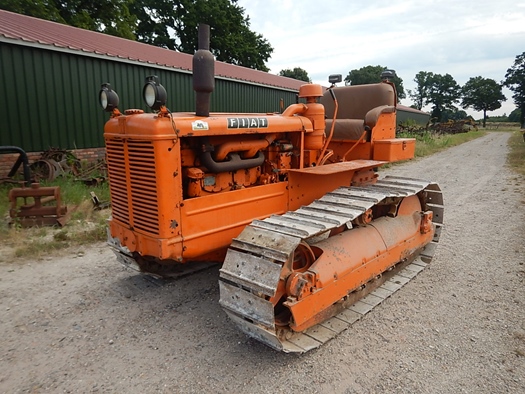
[[[98,104],[100,85],[111,84],[121,110],[148,110],[142,87],[149,75],[160,78],[172,112],[195,110],[190,73],[0,42],[0,145],[102,147],[109,115]],[[295,92],[217,79],[211,111],[277,112],[281,98],[292,104]]]

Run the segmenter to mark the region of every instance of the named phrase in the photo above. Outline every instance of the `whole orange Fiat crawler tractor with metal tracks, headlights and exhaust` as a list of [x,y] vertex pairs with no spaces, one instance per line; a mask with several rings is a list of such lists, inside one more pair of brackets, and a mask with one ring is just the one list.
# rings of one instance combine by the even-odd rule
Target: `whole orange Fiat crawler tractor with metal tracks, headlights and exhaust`
[[[220,304],[245,333],[284,352],[334,337],[421,271],[443,221],[437,184],[379,180],[410,159],[395,138],[396,93],[382,83],[306,84],[283,113],[210,113],[209,32],[193,59],[196,113],[171,113],[156,77],[153,113],[117,109],[104,137],[121,262],[167,276],[192,262],[223,262]],[[331,82],[340,81],[334,76]]]

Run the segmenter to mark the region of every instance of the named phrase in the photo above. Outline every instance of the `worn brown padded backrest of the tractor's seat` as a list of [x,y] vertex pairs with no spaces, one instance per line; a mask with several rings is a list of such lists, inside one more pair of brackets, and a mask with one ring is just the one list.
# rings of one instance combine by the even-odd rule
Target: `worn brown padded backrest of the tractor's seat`
[[[334,88],[339,104],[337,119],[365,119],[368,111],[381,105],[395,106],[394,88],[388,83],[351,85]],[[324,92],[320,103],[325,107],[327,119],[334,117],[334,101],[330,92]]]

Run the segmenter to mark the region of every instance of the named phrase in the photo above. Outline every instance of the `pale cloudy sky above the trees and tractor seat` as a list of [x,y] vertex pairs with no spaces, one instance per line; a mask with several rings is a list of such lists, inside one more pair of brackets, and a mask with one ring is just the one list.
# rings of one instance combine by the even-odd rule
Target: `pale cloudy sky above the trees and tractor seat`
[[[525,0],[238,0],[250,29],[274,51],[270,73],[301,67],[313,83],[365,66],[394,69],[405,93],[419,71],[459,85],[481,76],[501,83],[525,52]],[[489,116],[509,114],[512,92]],[[408,97],[401,100],[411,105]],[[423,110],[430,110],[427,106]],[[479,118],[481,112],[465,111]]]

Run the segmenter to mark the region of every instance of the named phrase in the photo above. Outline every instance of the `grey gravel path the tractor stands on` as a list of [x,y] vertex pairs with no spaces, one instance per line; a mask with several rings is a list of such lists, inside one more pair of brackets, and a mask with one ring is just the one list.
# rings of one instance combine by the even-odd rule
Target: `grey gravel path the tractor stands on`
[[104,244],[0,265],[0,392],[525,392],[525,187],[507,133],[382,171],[445,195],[431,266],[321,349],[237,332],[218,267],[168,283]]

